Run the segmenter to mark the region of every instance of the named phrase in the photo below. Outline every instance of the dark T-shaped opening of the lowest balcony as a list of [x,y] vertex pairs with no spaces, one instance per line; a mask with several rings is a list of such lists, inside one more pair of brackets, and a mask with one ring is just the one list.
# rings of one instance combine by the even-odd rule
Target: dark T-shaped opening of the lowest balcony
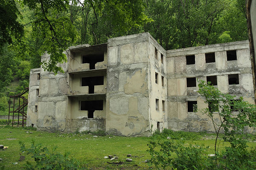
[[88,111],[88,118],[93,118],[94,111],[103,111],[103,100],[81,101],[81,111]]

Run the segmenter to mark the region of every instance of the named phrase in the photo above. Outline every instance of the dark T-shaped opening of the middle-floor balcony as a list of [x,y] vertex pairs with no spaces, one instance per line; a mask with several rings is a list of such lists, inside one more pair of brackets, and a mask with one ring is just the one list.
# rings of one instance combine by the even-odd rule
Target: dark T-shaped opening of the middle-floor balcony
[[89,94],[94,94],[95,85],[104,85],[104,76],[82,77],[81,86],[89,86]]

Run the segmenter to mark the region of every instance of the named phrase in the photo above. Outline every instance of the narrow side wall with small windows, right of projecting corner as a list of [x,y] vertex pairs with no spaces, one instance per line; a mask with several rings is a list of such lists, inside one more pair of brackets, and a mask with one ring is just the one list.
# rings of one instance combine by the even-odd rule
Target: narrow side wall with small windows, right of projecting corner
[[[157,49],[157,57],[155,57],[155,49]],[[161,61],[161,54],[163,61]],[[163,63],[162,63],[163,62]],[[150,127],[151,132],[157,130],[162,131],[167,128],[167,79],[166,79],[166,51],[161,47],[156,40],[149,37],[149,68],[150,81],[149,83],[149,105],[150,105]],[[155,74],[157,75],[157,83],[155,82]],[[163,76],[163,86],[162,86]],[[156,99],[158,99],[158,109],[156,108]],[[164,101],[164,106],[163,102]],[[164,109],[164,111],[163,111]]]

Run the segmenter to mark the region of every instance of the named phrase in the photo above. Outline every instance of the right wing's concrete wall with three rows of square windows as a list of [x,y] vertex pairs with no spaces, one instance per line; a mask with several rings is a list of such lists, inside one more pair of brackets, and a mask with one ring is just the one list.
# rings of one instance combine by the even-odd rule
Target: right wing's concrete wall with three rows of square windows
[[[237,60],[227,61],[227,51],[236,50]],[[215,53],[215,62],[206,63],[205,54]],[[186,65],[186,56],[195,54],[195,64]],[[206,45],[166,51],[168,81],[168,127],[172,130],[213,131],[212,123],[201,112],[188,112],[188,101],[197,101],[198,109],[207,108],[196,87],[187,87],[186,78],[206,81],[216,76],[221,92],[243,96],[254,104],[253,77],[248,41]],[[239,74],[239,84],[229,85],[228,75]],[[216,115],[217,116],[217,115]]]

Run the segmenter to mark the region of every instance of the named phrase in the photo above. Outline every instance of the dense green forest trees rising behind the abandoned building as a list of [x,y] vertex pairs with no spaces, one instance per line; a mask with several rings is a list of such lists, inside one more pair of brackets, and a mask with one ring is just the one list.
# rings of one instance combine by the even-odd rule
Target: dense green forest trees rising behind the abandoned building
[[0,97],[28,86],[31,68],[62,71],[71,45],[141,32],[166,50],[248,39],[244,0],[0,0],[0,14]]

